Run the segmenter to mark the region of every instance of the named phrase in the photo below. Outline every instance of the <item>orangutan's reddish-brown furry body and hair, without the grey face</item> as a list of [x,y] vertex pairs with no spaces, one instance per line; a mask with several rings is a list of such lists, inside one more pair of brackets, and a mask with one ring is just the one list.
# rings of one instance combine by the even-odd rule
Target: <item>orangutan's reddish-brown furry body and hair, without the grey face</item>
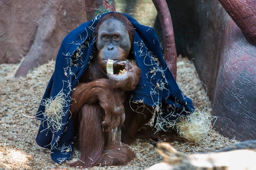
[[[126,25],[132,42],[132,24],[121,14],[109,14],[104,18],[117,17]],[[104,21],[102,18],[95,32]],[[97,40],[96,40],[97,41]],[[124,61],[129,54],[119,48],[119,61]],[[74,125],[78,130],[80,160],[68,163],[70,166],[125,165],[136,158],[132,150],[123,143],[130,143],[143,124],[147,123],[152,114],[148,109],[144,114],[134,112],[129,104],[129,96],[135,89],[141,70],[136,62],[123,63],[128,70],[119,77],[107,77],[104,71],[104,63],[99,60],[100,51],[91,61],[91,67],[79,80],[72,93],[72,105],[70,112],[74,116]],[[130,55],[131,56],[131,55]],[[100,69],[101,68],[101,69]],[[119,71],[119,70],[118,70]],[[142,103],[139,104],[141,106]],[[138,107],[132,104],[132,107]],[[151,107],[148,107],[151,109]],[[104,139],[104,131],[116,126],[122,126],[122,142],[107,143]],[[107,144],[106,144],[107,143]],[[121,146],[122,145],[122,146]]]

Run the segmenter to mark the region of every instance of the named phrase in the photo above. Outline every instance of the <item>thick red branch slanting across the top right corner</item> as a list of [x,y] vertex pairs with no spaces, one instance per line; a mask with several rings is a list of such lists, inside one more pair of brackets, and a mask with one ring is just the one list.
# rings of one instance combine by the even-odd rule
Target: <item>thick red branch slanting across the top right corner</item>
[[219,2],[241,29],[246,40],[256,45],[256,1],[219,0]]

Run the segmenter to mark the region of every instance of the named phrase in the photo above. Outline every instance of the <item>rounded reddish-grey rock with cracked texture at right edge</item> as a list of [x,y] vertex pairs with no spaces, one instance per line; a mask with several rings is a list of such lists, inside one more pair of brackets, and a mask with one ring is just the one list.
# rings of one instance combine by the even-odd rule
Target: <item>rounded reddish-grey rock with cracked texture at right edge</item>
[[213,114],[216,128],[239,140],[256,138],[256,46],[251,45],[233,20],[223,35]]

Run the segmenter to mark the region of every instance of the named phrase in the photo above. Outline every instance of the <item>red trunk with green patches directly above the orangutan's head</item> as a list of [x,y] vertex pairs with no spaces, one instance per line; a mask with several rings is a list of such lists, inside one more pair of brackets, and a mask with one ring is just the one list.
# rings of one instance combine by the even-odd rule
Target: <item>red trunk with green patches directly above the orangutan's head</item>
[[114,0],[85,0],[86,18],[91,20],[98,14],[115,11]]

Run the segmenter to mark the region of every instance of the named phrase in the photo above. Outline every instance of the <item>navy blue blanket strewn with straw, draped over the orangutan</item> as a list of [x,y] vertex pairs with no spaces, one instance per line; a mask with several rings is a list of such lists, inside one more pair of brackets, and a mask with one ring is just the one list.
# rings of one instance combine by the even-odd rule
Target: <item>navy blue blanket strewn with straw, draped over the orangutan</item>
[[[36,142],[48,148],[52,160],[57,163],[72,159],[74,128],[73,116],[69,114],[71,93],[96,53],[94,28],[106,14],[79,25],[64,38],[54,73],[36,114],[36,119],[41,120]],[[122,15],[134,27],[132,51],[142,71],[130,102],[143,102],[154,107],[154,126],[157,130],[172,128],[180,116],[194,111],[192,101],[183,95],[169,71],[155,30],[139,24],[128,15]]]

